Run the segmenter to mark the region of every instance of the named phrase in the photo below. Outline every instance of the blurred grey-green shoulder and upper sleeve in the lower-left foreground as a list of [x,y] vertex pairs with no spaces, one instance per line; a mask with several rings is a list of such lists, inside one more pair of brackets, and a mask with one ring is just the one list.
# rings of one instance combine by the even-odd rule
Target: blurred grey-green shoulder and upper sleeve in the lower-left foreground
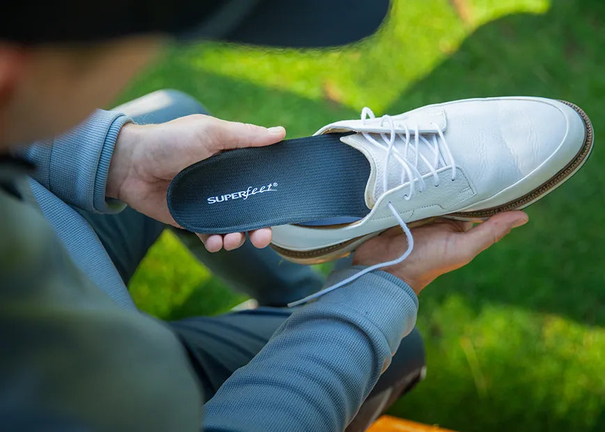
[[2,429],[199,430],[197,378],[174,334],[102,293],[31,204],[1,191],[0,208]]

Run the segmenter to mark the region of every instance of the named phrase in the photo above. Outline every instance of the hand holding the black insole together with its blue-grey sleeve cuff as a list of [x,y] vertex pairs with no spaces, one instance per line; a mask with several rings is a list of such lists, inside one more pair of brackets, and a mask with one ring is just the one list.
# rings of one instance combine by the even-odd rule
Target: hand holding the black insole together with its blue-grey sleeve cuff
[[[124,127],[125,126],[125,127]],[[135,125],[118,111],[97,110],[84,123],[49,143],[15,152],[36,164],[34,178],[59,199],[84,210],[117,213],[128,205],[165,224],[172,219],[170,181],[190,164],[232,148],[267,146],[284,138],[282,127],[263,128],[201,114],[158,125]],[[250,231],[256,247],[270,229]],[[245,233],[199,235],[210,252],[236,249]]]

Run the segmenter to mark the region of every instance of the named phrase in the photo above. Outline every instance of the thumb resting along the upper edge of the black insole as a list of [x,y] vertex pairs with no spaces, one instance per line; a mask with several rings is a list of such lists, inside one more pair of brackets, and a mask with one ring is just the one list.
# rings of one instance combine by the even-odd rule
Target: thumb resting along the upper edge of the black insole
[[224,121],[219,118],[213,118],[208,132],[213,137],[217,151],[268,146],[282,141],[286,136],[286,130],[282,126],[263,128],[250,123]]

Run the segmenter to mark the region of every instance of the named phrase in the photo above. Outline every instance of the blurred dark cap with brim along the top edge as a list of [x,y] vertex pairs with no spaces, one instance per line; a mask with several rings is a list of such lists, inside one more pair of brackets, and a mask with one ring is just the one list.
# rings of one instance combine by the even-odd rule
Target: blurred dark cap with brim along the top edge
[[371,35],[388,0],[10,0],[0,40],[70,43],[144,33],[279,47],[343,45]]

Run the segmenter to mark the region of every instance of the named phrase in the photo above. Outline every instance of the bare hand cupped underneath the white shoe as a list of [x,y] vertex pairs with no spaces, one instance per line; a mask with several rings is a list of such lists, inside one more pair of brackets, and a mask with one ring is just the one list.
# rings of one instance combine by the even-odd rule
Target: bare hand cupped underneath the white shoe
[[[419,294],[436,277],[470,263],[511,229],[526,222],[528,216],[521,211],[500,213],[475,227],[472,222],[437,219],[412,229],[411,255],[404,262],[382,270],[399,277]],[[403,254],[407,247],[406,236],[397,226],[361,245],[353,256],[353,264],[384,263]]]

